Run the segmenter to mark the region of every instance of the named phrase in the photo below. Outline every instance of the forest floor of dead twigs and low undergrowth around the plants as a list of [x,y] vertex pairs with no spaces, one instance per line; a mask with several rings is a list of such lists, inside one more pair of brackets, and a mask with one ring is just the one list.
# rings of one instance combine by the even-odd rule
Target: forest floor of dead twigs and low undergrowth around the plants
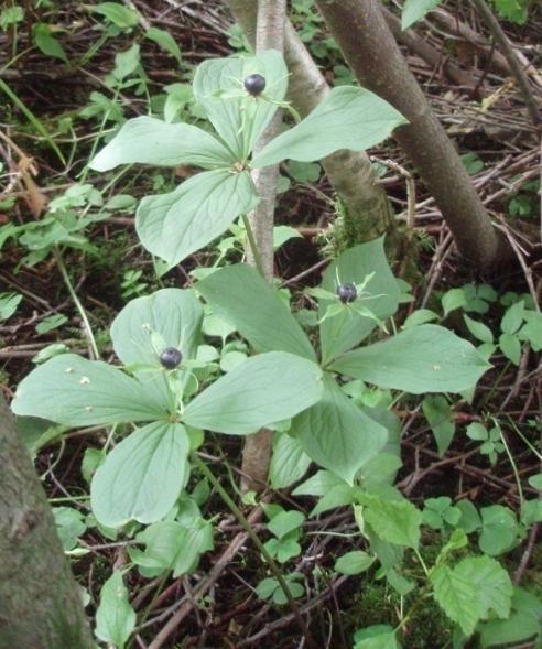
[[[419,25],[419,36],[438,53],[436,64],[430,65],[412,50],[403,51],[463,155],[484,204],[503,236],[513,242],[517,262],[492,275],[480,275],[468,268],[458,257],[434,201],[413,172],[413,246],[419,251],[420,274],[414,281],[404,278],[412,283],[414,299],[403,306],[403,315],[420,307],[442,311],[442,296],[451,289],[463,288],[468,302],[447,315],[446,325],[469,337],[463,318],[468,313],[498,337],[501,317],[514,301],[523,299],[525,306],[540,311],[541,150],[513,80],[502,61],[495,61],[487,33],[467,4],[447,2],[445,18],[432,14]],[[26,10],[17,30],[4,25],[0,32],[0,388],[8,399],[34,366],[36,355],[51,350],[52,344],[88,354],[82,320],[54,255],[56,244],[62,247],[71,281],[106,360],[112,359],[108,327],[128,300],[162,286],[189,285],[191,271],[209,266],[217,258],[217,248],[208,248],[159,278],[134,232],[136,201],[149,191],[173,186],[175,180],[191,174],[189,169],[177,167],[174,174],[129,170],[104,177],[88,172],[85,164],[102,145],[102,137],[119,121],[145,115],[149,106],[160,112],[167,96],[174,93],[172,85],[189,83],[195,65],[208,57],[243,51],[246,43],[219,2],[134,0],[126,6],[137,7],[139,24],[105,28],[104,18],[86,4],[44,2],[40,9]],[[312,3],[294,0],[292,19],[329,84],[353,83]],[[468,26],[483,44],[458,35],[459,24]],[[541,4],[533,7],[527,24],[502,24],[518,44],[518,52],[540,69]],[[52,37],[47,41],[43,36],[41,41],[48,55],[30,36],[36,33],[36,25],[45,25],[39,30]],[[182,53],[181,63],[151,40],[142,39],[142,30],[149,26],[166,30],[173,36]],[[57,42],[62,43],[67,63],[52,44]],[[141,67],[128,77],[131,83],[115,85],[110,74],[116,55],[134,43],[141,47]],[[471,85],[459,86],[446,76],[444,64],[449,60],[462,66]],[[542,75],[533,74],[534,86],[542,84],[541,79]],[[194,118],[188,102],[182,110],[187,119]],[[413,170],[391,140],[370,154],[397,218],[405,227],[408,195],[403,170]],[[389,160],[395,164],[389,165]],[[335,197],[318,165],[296,169],[284,164],[281,173],[282,186],[288,191],[279,197],[277,223],[299,229],[302,237],[282,246],[277,255],[275,274],[296,293],[319,281],[323,249],[333,239],[328,228],[336,217]],[[90,187],[85,185],[80,190],[80,184]],[[79,188],[66,198],[65,192],[74,185]],[[96,191],[102,194],[105,206],[93,194]],[[119,195],[124,198],[116,198],[117,207],[111,199]],[[77,215],[71,231],[34,227],[46,218],[52,201],[64,201],[64,206]],[[82,221],[82,216],[90,218]],[[17,231],[10,226],[15,226]],[[225,259],[240,260],[239,247],[228,249]],[[312,270],[296,279],[307,269]],[[6,294],[10,294],[10,300]],[[443,458],[436,452],[421,402],[412,401],[409,408],[398,411],[403,461],[398,483],[414,502],[449,496],[453,500],[469,498],[478,506],[503,505],[518,511],[522,497],[518,476],[523,480],[540,473],[536,453],[522,441],[527,437],[540,452],[540,354],[523,344],[517,363],[499,351],[491,361],[495,367],[483,377],[471,403],[453,403],[449,423],[455,426],[455,436]],[[499,422],[505,431],[516,466],[503,448],[497,450],[495,456],[480,453],[479,443],[465,434],[466,425],[488,418]],[[43,432],[32,428],[22,434],[35,456],[52,504],[74,506],[86,516],[83,497],[88,487],[82,476],[82,461],[88,447],[102,445],[104,431],[79,431],[62,441],[54,435],[46,439]],[[226,457],[235,472],[240,443],[237,437],[223,442],[221,447],[209,443],[206,452],[209,456]],[[536,490],[527,483],[523,489],[536,497]],[[305,512],[313,505],[312,498],[292,500],[288,493],[274,493],[272,497],[283,504],[294,502]],[[194,575],[162,584],[160,580],[130,574],[132,605],[145,610],[133,646],[148,647],[156,637],[163,639],[152,645],[154,649],[302,646],[294,614],[288,607],[262,602],[253,591],[262,576],[258,551],[242,537],[237,522],[220,510],[219,502],[209,498],[205,507],[206,516],[219,516],[220,536],[215,539],[215,550],[203,558]],[[247,506],[247,515],[251,509]],[[96,527],[82,520],[84,530],[75,536],[79,538],[77,548],[85,552],[80,556],[73,553],[71,560],[79,583],[89,593],[88,612],[93,615],[99,588],[111,567],[127,561],[126,544],[105,538]],[[532,526],[501,559],[516,583],[530,585],[542,594],[538,527]],[[304,527],[303,553],[291,562],[292,570],[304,575],[305,596],[299,608],[307,615],[319,647],[350,647],[357,628],[388,621],[390,610],[399,602],[382,582],[366,583],[364,575],[347,577],[333,572],[334,558],[351,549],[348,534],[354,528],[346,508],[310,519]],[[264,523],[258,520],[254,529],[264,532]],[[242,548],[235,552],[239,541]],[[195,606],[191,592],[202,584],[205,587],[197,593],[205,593],[205,599]],[[175,624],[171,624],[172,616]],[[405,646],[444,647],[442,638],[448,632],[443,615],[427,605],[411,621]]]

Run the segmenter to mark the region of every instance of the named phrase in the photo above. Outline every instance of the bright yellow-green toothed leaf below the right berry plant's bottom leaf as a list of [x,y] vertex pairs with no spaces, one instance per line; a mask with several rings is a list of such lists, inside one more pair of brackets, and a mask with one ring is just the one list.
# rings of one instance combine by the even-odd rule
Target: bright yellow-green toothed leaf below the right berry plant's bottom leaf
[[364,518],[375,533],[394,545],[418,548],[422,512],[409,500],[384,500],[378,496],[360,495]]

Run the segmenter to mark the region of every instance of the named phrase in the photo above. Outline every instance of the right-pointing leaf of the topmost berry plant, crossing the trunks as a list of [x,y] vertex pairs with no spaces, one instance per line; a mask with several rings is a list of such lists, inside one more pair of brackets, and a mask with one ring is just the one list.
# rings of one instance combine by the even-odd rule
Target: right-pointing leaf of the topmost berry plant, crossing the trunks
[[271,140],[252,161],[253,167],[282,160],[313,162],[339,149],[364,151],[406,123],[390,104],[354,86],[334,88],[303,121]]

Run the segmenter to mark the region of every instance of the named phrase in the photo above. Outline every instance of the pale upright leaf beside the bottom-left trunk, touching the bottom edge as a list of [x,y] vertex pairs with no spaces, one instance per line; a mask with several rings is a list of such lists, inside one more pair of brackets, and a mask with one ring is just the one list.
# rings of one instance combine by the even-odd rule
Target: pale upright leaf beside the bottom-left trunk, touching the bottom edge
[[134,627],[136,613],[128,602],[122,572],[115,571],[101,588],[100,605],[96,612],[96,636],[123,649]]

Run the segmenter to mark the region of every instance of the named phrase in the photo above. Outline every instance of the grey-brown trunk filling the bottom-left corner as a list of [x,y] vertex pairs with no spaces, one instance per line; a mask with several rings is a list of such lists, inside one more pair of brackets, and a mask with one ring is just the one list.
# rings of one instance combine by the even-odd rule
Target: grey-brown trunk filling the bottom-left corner
[[1,394],[0,465],[0,649],[90,649],[78,586]]

